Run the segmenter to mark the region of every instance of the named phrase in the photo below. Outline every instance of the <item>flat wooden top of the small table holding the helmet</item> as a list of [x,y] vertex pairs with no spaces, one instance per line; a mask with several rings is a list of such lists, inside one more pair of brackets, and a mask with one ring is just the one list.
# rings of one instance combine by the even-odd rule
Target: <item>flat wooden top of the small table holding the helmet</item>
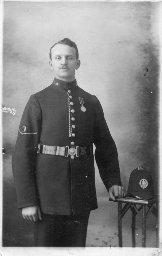
[[[111,198],[109,198],[109,201],[113,201]],[[128,204],[154,204],[157,203],[159,201],[159,196],[154,196],[151,199],[148,200],[143,200],[143,199],[138,199],[135,197],[130,197],[130,196],[126,196],[126,197],[116,197],[116,201],[113,202],[117,202],[117,203],[128,203]]]

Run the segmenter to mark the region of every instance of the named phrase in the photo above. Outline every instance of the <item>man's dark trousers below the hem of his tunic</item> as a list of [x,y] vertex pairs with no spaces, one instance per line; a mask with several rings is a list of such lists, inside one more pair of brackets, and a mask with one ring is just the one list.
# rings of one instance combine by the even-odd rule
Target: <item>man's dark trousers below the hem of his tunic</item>
[[73,216],[42,213],[33,222],[35,246],[85,247],[89,213]]

